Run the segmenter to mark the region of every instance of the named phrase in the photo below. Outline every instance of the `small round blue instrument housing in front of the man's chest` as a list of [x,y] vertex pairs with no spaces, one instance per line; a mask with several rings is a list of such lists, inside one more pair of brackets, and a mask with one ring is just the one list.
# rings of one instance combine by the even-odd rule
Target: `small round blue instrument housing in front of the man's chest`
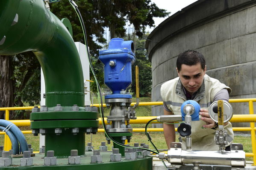
[[194,113],[191,114],[191,119],[192,121],[199,121],[199,112],[200,112],[200,105],[193,100],[188,100],[185,101],[182,105],[181,105],[181,116],[182,116],[182,121],[185,121],[185,112],[183,111],[183,108],[185,107],[185,105],[187,104],[191,104],[194,107]]

